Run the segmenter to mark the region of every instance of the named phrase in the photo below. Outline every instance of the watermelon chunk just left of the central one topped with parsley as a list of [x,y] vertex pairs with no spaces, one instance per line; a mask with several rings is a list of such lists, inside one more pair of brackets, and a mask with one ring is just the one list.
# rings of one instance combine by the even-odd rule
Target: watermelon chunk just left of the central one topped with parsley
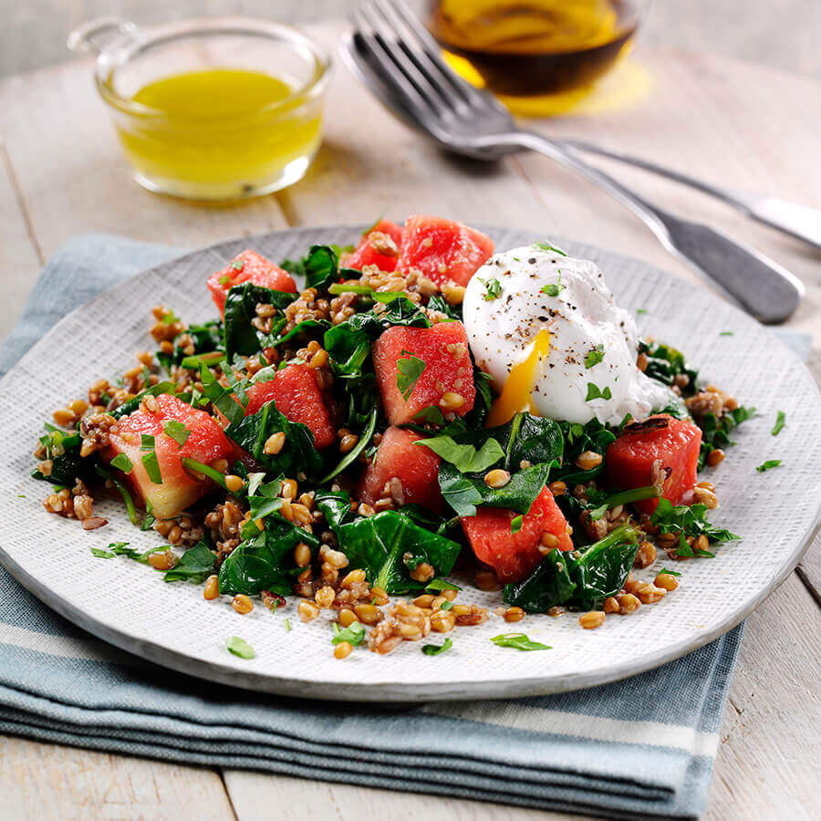
[[245,416],[256,413],[265,402],[274,400],[276,410],[289,421],[302,422],[310,428],[318,449],[337,441],[336,428],[317,386],[317,374],[307,365],[288,365],[277,370],[273,379],[257,382],[245,392],[248,394]]

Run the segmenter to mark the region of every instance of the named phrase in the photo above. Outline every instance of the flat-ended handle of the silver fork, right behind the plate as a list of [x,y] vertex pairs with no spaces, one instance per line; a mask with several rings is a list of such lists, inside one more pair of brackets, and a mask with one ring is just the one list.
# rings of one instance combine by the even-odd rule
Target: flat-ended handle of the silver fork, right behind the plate
[[[604,171],[566,148],[532,131],[505,135],[513,146],[545,154],[598,185],[645,223],[660,243],[701,275],[706,275],[736,303],[764,322],[783,322],[797,307],[804,286],[781,265],[729,236],[700,223],[673,216],[644,200]],[[499,140],[495,139],[498,147]]]

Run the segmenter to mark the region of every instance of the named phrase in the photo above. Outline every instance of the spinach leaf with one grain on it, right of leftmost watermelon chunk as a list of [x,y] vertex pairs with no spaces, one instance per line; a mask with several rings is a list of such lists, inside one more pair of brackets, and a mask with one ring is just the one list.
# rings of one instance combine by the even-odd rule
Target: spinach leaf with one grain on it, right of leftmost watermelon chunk
[[[286,435],[282,450],[275,454],[265,453],[265,442],[279,431]],[[316,477],[322,471],[322,456],[317,451],[310,428],[302,422],[289,421],[285,414],[276,410],[274,400],[265,402],[256,413],[232,421],[225,428],[225,435],[271,473],[293,476],[304,471],[308,476]]]

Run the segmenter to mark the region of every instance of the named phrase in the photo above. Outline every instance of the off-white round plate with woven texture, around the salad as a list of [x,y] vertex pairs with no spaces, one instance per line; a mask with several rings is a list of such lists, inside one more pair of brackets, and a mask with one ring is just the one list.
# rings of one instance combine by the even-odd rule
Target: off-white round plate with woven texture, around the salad
[[[535,239],[489,233],[499,249]],[[161,544],[159,535],[132,527],[121,505],[96,506],[109,525],[89,533],[77,521],[45,513],[40,500],[48,486],[28,478],[44,419],[83,397],[95,379],[130,368],[135,351],[153,349],[152,306],[164,303],[185,321],[202,321],[214,316],[206,275],[244,247],[280,260],[301,255],[310,244],[346,244],[358,234],[351,227],[301,229],[184,256],[79,308],[20,360],[0,382],[0,560],[19,581],[91,633],[174,670],[309,698],[430,701],[567,691],[649,670],[731,629],[795,566],[816,529],[821,498],[821,405],[803,364],[750,317],[706,292],[636,260],[572,242],[563,247],[595,260],[621,305],[646,309],[638,317],[642,333],[682,348],[702,376],[759,411],[710,475],[721,502],[712,519],[743,540],[720,547],[715,559],[679,563],[681,587],[660,604],[629,618],[608,618],[592,631],[580,629],[569,614],[530,616],[514,626],[492,617],[480,627],[456,629],[452,650],[442,656],[426,656],[419,643],[404,642],[386,657],[360,648],[339,662],[331,655],[327,618],[302,624],[293,600],[274,616],[260,606],[239,616],[227,597],[204,601],[201,586],[165,584],[161,574],[127,558],[92,556],[89,548],[112,541],[140,549]],[[776,410],[786,412],[787,422],[773,437]],[[765,459],[784,463],[756,473]],[[651,577],[663,564],[660,558],[639,576]],[[495,607],[501,594],[467,588],[460,599]],[[553,649],[519,652],[488,640],[511,629]],[[254,660],[225,650],[234,635],[253,645]],[[424,643],[442,638],[431,634]]]

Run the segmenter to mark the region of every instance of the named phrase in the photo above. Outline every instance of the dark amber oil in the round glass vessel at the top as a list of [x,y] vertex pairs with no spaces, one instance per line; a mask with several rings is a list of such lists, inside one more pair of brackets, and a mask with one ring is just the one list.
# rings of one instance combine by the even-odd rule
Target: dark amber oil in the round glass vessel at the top
[[429,0],[427,23],[460,73],[514,98],[588,86],[636,31],[631,0]]

